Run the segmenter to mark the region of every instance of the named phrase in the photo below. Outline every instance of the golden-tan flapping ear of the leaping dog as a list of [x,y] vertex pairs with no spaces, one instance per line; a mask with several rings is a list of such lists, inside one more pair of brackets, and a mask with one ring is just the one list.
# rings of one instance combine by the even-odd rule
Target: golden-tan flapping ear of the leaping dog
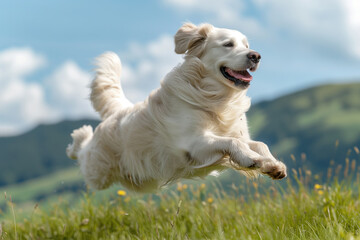
[[185,23],[175,34],[175,52],[200,57],[207,35],[213,28],[210,24],[195,26]]

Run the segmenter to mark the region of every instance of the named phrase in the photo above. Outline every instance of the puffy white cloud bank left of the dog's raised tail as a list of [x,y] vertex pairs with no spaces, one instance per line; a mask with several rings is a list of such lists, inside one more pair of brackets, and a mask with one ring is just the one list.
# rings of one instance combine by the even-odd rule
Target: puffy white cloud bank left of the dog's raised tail
[[0,136],[64,118],[96,117],[88,100],[90,74],[67,61],[44,84],[27,81],[45,64],[45,58],[30,48],[0,52]]

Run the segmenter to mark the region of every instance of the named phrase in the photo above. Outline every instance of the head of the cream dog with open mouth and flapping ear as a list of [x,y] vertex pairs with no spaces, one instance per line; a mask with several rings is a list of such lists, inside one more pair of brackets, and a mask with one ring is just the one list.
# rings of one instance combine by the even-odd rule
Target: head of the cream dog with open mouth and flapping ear
[[206,70],[226,86],[246,89],[260,62],[260,54],[251,50],[242,33],[215,28],[210,24],[184,24],[175,35],[175,52],[197,57]]

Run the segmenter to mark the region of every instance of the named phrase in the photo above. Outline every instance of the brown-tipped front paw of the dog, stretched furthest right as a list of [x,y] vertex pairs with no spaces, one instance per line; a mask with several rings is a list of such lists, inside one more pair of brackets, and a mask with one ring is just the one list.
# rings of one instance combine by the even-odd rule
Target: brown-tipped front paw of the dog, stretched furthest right
[[274,180],[283,179],[286,177],[286,166],[280,161],[274,160],[258,160],[255,161],[259,166],[258,171],[262,174],[266,174]]

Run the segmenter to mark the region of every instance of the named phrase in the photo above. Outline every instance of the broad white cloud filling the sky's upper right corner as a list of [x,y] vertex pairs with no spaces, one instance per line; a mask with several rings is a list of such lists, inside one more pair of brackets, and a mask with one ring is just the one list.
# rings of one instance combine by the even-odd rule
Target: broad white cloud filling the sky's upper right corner
[[207,14],[211,23],[237,28],[251,38],[279,43],[285,36],[294,48],[360,59],[358,0],[163,1],[177,11]]

